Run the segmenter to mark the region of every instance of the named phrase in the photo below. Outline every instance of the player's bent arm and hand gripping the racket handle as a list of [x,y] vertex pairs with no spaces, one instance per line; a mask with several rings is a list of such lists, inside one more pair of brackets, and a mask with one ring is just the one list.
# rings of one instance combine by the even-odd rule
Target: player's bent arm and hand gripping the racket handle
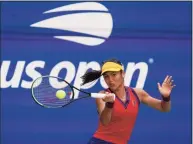
[[111,106],[114,103],[114,97],[111,93],[105,91],[101,91],[100,93],[107,94],[104,98],[96,99],[97,111],[99,113],[100,121],[105,126],[108,125],[111,121],[113,111]]

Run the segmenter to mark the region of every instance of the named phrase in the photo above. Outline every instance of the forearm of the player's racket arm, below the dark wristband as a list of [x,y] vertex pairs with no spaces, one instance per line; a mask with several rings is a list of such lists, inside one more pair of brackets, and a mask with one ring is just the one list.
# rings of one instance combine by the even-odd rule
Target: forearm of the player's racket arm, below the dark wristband
[[108,107],[107,105],[104,107],[100,115],[100,121],[103,125],[108,125],[110,123],[112,111],[112,107]]

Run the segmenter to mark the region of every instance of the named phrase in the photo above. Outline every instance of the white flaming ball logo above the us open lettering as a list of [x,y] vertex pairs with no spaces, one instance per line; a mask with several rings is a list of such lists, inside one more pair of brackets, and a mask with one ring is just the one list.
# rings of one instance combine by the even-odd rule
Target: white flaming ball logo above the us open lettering
[[55,35],[53,37],[87,46],[100,45],[111,35],[112,16],[108,9],[100,3],[75,3],[45,11],[43,14],[57,12],[72,13],[48,18],[30,26],[72,32],[72,35]]

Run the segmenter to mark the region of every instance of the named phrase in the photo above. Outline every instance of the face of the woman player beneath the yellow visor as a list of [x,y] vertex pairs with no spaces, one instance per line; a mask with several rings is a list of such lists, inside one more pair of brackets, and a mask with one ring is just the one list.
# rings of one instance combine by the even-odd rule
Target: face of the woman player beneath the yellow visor
[[124,85],[124,73],[122,71],[109,71],[104,73],[104,80],[112,91],[116,91],[121,85]]

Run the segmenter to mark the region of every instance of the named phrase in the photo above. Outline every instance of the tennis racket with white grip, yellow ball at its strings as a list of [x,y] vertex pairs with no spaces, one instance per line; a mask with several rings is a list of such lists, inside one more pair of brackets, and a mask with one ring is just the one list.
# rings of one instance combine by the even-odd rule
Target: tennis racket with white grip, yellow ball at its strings
[[[79,97],[74,98],[74,90],[80,91]],[[82,98],[103,98],[106,94],[82,91],[66,80],[54,76],[42,76],[35,79],[31,86],[33,99],[37,104],[46,108],[60,108]],[[60,92],[58,94],[58,92]],[[61,97],[58,97],[61,96]]]

